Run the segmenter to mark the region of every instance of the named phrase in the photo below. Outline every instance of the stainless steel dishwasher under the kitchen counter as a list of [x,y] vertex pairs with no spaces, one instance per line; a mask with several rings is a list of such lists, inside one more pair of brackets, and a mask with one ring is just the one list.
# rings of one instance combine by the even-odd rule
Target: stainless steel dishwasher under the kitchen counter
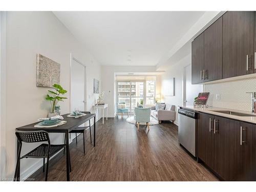
[[197,113],[186,109],[179,109],[179,143],[186,150],[197,157]]

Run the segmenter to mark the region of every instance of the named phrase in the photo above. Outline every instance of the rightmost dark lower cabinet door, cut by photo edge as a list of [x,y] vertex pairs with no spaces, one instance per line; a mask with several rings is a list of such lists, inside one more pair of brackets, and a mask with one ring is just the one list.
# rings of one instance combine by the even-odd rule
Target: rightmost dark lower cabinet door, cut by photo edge
[[244,152],[246,168],[241,180],[256,181],[256,125],[242,123],[242,145],[246,146]]

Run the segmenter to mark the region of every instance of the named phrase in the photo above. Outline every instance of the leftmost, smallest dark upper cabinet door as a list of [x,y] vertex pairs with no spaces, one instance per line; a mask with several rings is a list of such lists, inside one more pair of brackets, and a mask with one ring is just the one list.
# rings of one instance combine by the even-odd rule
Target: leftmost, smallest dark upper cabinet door
[[204,33],[192,41],[192,84],[202,82],[204,68]]

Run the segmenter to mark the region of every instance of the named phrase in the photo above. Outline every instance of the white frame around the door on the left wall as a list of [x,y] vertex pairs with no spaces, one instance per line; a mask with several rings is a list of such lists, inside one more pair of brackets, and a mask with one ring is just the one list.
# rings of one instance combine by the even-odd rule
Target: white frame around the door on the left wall
[[72,80],[72,74],[71,74],[71,70],[72,70],[72,61],[76,61],[78,62],[81,66],[84,67],[84,111],[87,111],[87,73],[86,73],[86,65],[84,65],[81,61],[79,61],[76,57],[74,57],[72,55],[72,53],[70,53],[70,93],[69,93],[69,98],[70,98],[70,102],[69,102],[69,111],[71,112],[71,92],[72,92],[72,87],[71,87],[71,80]]

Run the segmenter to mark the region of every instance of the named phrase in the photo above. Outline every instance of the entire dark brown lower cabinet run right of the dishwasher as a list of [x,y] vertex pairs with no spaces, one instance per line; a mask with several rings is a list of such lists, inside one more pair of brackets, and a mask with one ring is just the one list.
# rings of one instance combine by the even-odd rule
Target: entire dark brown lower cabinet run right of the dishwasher
[[256,181],[256,125],[198,115],[198,158],[226,181]]

